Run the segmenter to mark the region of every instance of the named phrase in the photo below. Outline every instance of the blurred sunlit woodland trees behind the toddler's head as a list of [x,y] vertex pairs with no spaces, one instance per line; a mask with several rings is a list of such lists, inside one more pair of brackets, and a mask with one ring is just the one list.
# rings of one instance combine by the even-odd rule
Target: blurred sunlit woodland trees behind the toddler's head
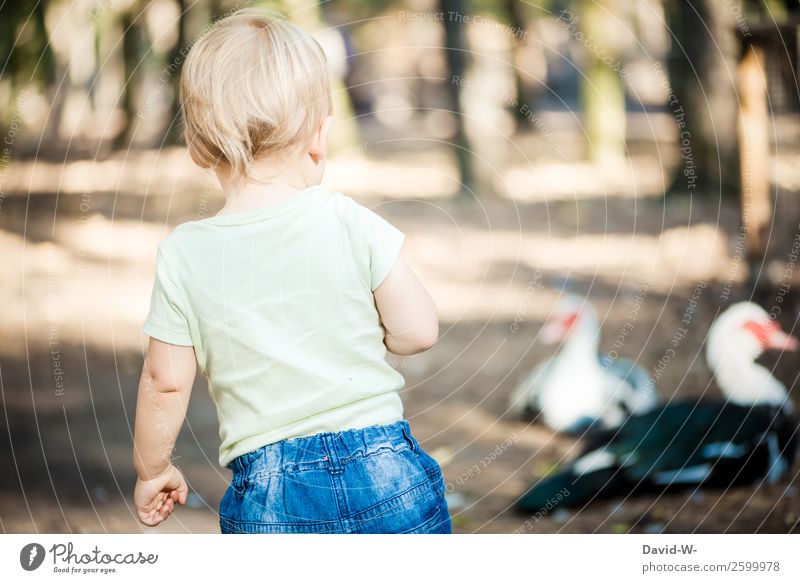
[[[27,97],[24,107],[2,111],[7,126],[21,116],[28,128],[27,139],[15,141],[15,151],[96,158],[114,149],[180,143],[182,60],[192,39],[241,4],[4,3],[0,96],[7,104],[14,104],[21,92]],[[533,112],[568,111],[583,141],[577,156],[617,163],[641,141],[637,128],[629,127],[630,114],[670,110],[665,84],[653,67],[663,63],[692,126],[703,191],[737,195],[736,68],[751,44],[765,44],[759,36],[791,24],[798,10],[791,0],[286,0],[250,5],[287,14],[325,45],[336,89],[337,148],[360,143],[364,126],[382,125],[387,135],[402,136],[398,128],[414,122],[421,133],[451,143],[462,190],[477,188],[484,194],[494,188],[474,158],[488,156],[494,163],[491,159],[503,149],[492,139],[475,143],[477,135],[487,133],[482,124],[506,134],[535,132]],[[423,16],[434,12],[450,16]],[[796,42],[787,38],[782,47],[769,47],[766,58],[777,55],[791,67]],[[400,53],[391,49],[403,43],[413,48],[398,58]],[[477,83],[477,91],[447,82],[454,76]],[[780,73],[769,81],[779,87]],[[790,97],[796,106],[796,95]],[[650,133],[650,141],[661,138],[659,132]],[[678,167],[666,190],[685,190],[680,174]]]

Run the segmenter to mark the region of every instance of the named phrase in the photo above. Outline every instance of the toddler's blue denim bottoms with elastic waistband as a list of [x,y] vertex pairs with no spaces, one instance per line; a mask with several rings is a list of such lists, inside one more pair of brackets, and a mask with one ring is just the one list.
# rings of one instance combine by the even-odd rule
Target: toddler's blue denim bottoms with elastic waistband
[[286,439],[233,460],[232,533],[450,533],[439,464],[408,422]]

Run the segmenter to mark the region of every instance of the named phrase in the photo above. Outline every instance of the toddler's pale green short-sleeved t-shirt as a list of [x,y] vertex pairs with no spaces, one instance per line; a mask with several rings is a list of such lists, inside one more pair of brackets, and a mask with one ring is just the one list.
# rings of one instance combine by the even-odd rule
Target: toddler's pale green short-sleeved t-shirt
[[148,336],[194,346],[219,463],[287,438],[402,419],[373,290],[404,235],[322,187],[178,226],[159,244]]

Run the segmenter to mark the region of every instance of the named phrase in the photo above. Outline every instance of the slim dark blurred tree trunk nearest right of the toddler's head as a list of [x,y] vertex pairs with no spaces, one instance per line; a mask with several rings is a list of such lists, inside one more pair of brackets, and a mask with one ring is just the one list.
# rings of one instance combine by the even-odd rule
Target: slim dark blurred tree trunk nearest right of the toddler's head
[[454,77],[464,78],[466,71],[466,25],[456,15],[466,15],[467,5],[464,0],[439,0],[439,11],[444,14],[442,23],[445,36],[445,57],[447,59],[448,79],[445,83],[447,90],[447,107],[453,113],[455,132],[453,133],[454,154],[458,163],[459,180],[461,182],[460,196],[470,196],[475,179],[472,168],[472,148],[467,134],[464,131],[464,115],[461,105],[461,91],[459,85],[452,83]]

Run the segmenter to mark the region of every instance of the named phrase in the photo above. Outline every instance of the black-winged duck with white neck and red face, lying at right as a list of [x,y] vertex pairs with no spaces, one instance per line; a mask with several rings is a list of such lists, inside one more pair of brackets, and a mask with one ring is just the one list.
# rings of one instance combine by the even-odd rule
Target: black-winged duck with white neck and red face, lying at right
[[754,360],[766,349],[796,350],[755,304],[731,306],[709,331],[706,358],[725,399],[675,401],[588,436],[569,466],[536,483],[517,510],[582,506],[595,498],[680,487],[774,482],[797,449],[797,418],[786,388]]

